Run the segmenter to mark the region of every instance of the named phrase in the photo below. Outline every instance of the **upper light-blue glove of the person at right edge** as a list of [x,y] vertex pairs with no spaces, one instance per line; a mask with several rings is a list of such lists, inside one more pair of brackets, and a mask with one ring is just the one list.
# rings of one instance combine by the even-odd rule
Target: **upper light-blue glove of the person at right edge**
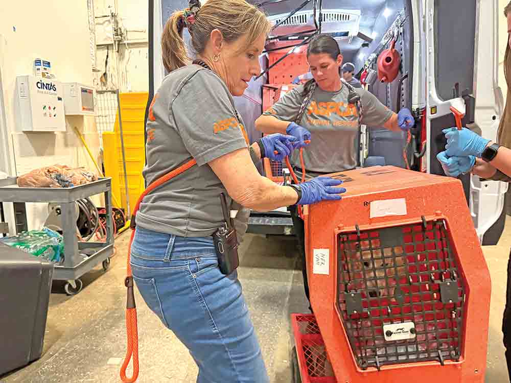
[[448,157],[481,157],[484,148],[490,142],[489,139],[482,138],[467,128],[462,128],[461,130],[448,128],[444,129],[443,132],[447,138],[446,152]]

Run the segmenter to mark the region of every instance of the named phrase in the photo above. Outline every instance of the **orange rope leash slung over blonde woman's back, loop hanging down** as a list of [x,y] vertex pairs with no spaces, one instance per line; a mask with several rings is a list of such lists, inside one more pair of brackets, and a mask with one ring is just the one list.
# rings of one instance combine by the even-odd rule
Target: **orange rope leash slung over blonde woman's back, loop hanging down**
[[[165,182],[170,179],[176,177],[177,175],[187,171],[195,165],[195,159],[188,161],[187,163],[179,166],[177,169],[172,172],[166,174],[165,176],[158,178],[155,182],[153,182],[147,189],[144,190],[144,193],[138,198],[136,201],[136,205],[133,209],[133,213],[131,214],[131,225],[130,228],[132,230],[131,237],[128,245],[128,258],[126,265],[126,279],[125,285],[128,288],[128,295],[126,299],[126,333],[128,337],[128,345],[126,351],[126,357],[124,358],[124,363],[121,367],[121,380],[124,383],[134,383],[138,378],[138,328],[136,323],[136,307],[135,307],[135,296],[133,294],[133,274],[131,272],[130,265],[130,256],[131,256],[131,244],[133,242],[133,237],[135,236],[135,216],[136,212],[140,208],[140,204],[145,196],[147,196],[152,190],[161,186]],[[133,358],[133,374],[131,377],[126,376],[126,369],[128,368],[129,362]]]

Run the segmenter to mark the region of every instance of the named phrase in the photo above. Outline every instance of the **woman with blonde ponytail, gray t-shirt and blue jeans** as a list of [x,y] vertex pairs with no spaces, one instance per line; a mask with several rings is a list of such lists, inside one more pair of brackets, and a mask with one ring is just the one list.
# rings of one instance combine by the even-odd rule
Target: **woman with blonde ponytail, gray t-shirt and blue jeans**
[[[248,209],[339,200],[345,191],[328,177],[277,185],[254,166],[263,157],[282,160],[297,142],[277,133],[250,145],[234,106],[233,96],[261,71],[270,28],[266,15],[245,0],[203,6],[192,0],[170,17],[161,37],[169,74],[149,108],[143,175],[149,185],[192,159],[196,165],[144,197],[130,266],[146,304],[190,350],[198,383],[269,382],[237,272],[219,267],[212,235],[225,226],[220,194],[238,211],[240,241]],[[162,368],[168,362],[156,361]]]

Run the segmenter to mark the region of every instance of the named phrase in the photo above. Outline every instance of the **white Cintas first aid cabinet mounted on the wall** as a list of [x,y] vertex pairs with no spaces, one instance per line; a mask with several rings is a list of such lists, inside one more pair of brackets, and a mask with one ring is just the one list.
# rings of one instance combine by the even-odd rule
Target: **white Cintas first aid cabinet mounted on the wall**
[[63,132],[63,86],[54,79],[35,76],[16,78],[16,130],[19,132]]

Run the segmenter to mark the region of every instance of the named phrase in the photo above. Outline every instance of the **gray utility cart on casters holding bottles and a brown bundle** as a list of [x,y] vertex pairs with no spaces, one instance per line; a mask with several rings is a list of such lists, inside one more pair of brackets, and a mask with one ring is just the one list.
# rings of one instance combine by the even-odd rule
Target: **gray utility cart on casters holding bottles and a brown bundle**
[[[80,277],[103,262],[106,271],[113,254],[113,225],[111,214],[106,214],[106,242],[79,242],[76,235],[75,201],[94,196],[105,195],[106,211],[112,209],[111,179],[100,178],[85,185],[65,188],[18,187],[16,177],[0,180],[0,202],[43,202],[59,203],[62,218],[64,241],[64,262],[56,264],[53,280],[67,280],[64,290],[75,295],[82,289]],[[94,252],[90,252],[90,251]],[[80,253],[84,252],[84,258]]]

